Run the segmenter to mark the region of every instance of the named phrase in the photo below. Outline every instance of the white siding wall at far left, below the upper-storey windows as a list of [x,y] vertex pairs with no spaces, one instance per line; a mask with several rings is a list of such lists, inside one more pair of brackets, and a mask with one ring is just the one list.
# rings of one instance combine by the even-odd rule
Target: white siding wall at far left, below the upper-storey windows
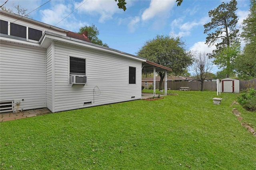
[[1,42],[1,101],[20,101],[14,104],[19,110],[46,107],[45,54],[45,49]]

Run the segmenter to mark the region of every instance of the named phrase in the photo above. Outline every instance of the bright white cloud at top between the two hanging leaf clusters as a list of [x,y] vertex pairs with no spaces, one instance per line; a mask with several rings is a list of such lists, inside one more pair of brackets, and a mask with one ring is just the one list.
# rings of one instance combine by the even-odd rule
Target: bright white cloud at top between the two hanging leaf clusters
[[174,4],[174,0],[151,0],[149,8],[143,12],[141,18],[146,21],[155,16],[163,16],[172,9]]

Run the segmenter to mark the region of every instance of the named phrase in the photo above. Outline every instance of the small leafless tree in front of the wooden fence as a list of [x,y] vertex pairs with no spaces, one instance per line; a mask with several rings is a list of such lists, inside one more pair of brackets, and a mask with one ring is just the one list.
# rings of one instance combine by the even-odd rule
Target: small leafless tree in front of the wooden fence
[[196,79],[201,82],[201,91],[204,91],[204,80],[210,75],[213,63],[206,53],[198,53],[194,60],[192,70],[196,73]]

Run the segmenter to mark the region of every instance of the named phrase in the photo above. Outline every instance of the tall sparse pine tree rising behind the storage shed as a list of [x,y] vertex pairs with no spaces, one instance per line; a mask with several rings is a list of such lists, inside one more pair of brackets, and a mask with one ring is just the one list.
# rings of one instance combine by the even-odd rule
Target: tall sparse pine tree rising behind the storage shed
[[226,67],[226,77],[232,72],[230,63],[236,57],[232,56],[232,53],[227,52],[232,52],[230,51],[231,46],[234,48],[239,45],[239,30],[236,28],[238,21],[235,14],[237,10],[236,5],[236,0],[231,0],[226,4],[222,2],[220,6],[208,12],[211,21],[204,25],[204,33],[208,33],[208,37],[206,37],[208,46],[212,46],[217,42],[215,45],[216,50],[212,51],[208,56],[210,58],[218,58],[218,60],[215,60],[215,64]]

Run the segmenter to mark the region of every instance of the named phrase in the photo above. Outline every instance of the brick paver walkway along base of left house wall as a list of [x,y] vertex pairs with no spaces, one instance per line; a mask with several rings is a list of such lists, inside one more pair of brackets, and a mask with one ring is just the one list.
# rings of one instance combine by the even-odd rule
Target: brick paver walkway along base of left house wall
[[44,115],[47,113],[51,113],[48,108],[41,108],[41,109],[32,109],[32,110],[24,110],[20,111],[19,113],[0,113],[0,121],[11,121],[17,119],[24,119],[26,117],[34,117],[37,115]]

